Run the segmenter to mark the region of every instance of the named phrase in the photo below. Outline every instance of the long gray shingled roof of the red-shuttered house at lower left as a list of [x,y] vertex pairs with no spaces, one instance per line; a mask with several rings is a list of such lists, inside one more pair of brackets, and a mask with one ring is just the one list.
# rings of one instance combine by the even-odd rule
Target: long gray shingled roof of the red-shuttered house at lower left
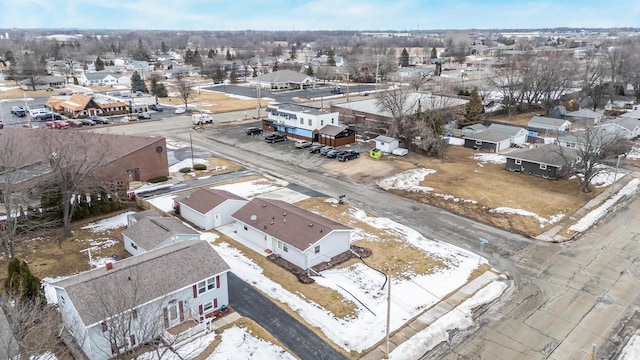
[[86,326],[229,271],[204,241],[181,241],[53,283],[64,288]]

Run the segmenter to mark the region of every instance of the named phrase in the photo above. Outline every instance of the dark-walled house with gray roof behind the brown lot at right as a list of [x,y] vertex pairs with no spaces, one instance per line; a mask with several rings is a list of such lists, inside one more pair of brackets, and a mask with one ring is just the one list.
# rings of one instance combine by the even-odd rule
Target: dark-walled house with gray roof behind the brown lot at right
[[546,144],[532,149],[514,151],[505,156],[505,169],[545,179],[558,179],[571,171],[578,159],[575,149]]

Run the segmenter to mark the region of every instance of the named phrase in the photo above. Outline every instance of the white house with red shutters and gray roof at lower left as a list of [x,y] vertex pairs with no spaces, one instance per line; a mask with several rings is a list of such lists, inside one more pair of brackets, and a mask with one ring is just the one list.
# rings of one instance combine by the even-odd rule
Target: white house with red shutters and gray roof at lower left
[[208,242],[183,241],[51,285],[65,330],[89,359],[107,360],[204,326],[229,304],[228,271]]

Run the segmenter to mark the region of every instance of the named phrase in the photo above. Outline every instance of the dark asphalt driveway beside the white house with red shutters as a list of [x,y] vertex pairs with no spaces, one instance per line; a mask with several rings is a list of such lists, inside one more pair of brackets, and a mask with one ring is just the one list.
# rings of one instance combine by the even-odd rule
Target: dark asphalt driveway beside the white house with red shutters
[[318,335],[235,274],[229,273],[228,278],[231,307],[240,315],[260,324],[295,356],[301,360],[346,359]]

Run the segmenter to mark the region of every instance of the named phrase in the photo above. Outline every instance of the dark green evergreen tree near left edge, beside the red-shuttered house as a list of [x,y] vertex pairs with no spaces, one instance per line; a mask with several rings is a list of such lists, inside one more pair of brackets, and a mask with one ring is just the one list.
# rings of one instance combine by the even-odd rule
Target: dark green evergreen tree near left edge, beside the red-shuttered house
[[35,301],[44,304],[44,292],[38,279],[25,261],[14,257],[8,265],[7,279],[4,284],[7,292],[23,301]]

